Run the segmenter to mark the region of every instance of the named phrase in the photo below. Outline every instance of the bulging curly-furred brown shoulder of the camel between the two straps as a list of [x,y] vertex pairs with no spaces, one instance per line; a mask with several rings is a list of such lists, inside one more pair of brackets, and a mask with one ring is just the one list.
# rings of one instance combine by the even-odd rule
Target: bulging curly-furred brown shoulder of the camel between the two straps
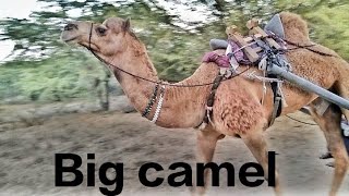
[[237,83],[224,83],[219,86],[212,117],[218,132],[230,136],[241,135],[254,130],[261,120],[265,120],[261,103],[248,89]]

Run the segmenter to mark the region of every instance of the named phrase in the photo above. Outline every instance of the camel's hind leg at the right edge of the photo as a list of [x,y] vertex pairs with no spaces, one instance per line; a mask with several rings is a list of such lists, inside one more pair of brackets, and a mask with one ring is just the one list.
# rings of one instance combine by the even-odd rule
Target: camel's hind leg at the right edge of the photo
[[[311,105],[316,105],[316,100]],[[335,158],[335,175],[332,183],[330,196],[336,195],[349,167],[349,159],[340,135],[341,111],[336,105],[330,105],[323,115],[312,108],[311,114],[325,134],[327,146]]]

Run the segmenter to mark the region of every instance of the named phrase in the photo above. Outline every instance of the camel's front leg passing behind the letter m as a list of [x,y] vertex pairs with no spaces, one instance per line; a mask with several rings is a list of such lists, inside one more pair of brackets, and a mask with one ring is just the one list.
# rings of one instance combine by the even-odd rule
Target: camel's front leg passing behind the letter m
[[[206,130],[197,132],[196,138],[196,162],[212,162],[217,140],[224,138],[225,135],[215,131],[210,125]],[[192,195],[204,195],[207,187],[208,170],[204,172],[204,186],[193,188]],[[195,192],[195,193],[194,193]]]

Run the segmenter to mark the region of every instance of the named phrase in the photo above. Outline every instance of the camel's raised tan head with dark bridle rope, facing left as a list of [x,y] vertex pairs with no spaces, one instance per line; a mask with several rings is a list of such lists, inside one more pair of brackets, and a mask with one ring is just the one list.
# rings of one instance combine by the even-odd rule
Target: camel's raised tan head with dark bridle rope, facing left
[[127,36],[133,35],[130,20],[110,17],[103,24],[92,22],[71,22],[64,26],[61,39],[91,49],[100,57],[122,53],[128,47]]

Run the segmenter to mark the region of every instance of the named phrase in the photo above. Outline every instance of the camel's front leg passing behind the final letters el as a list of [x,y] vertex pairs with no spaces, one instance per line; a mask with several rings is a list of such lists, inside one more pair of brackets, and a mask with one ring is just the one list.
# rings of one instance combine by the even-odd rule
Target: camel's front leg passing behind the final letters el
[[[249,147],[252,155],[258,161],[258,163],[263,167],[265,179],[268,179],[268,157],[267,157],[267,145],[264,138],[263,128],[254,130],[248,134],[241,135],[244,144]],[[279,185],[279,177],[278,172],[275,171],[275,194],[280,194],[280,185]]]

